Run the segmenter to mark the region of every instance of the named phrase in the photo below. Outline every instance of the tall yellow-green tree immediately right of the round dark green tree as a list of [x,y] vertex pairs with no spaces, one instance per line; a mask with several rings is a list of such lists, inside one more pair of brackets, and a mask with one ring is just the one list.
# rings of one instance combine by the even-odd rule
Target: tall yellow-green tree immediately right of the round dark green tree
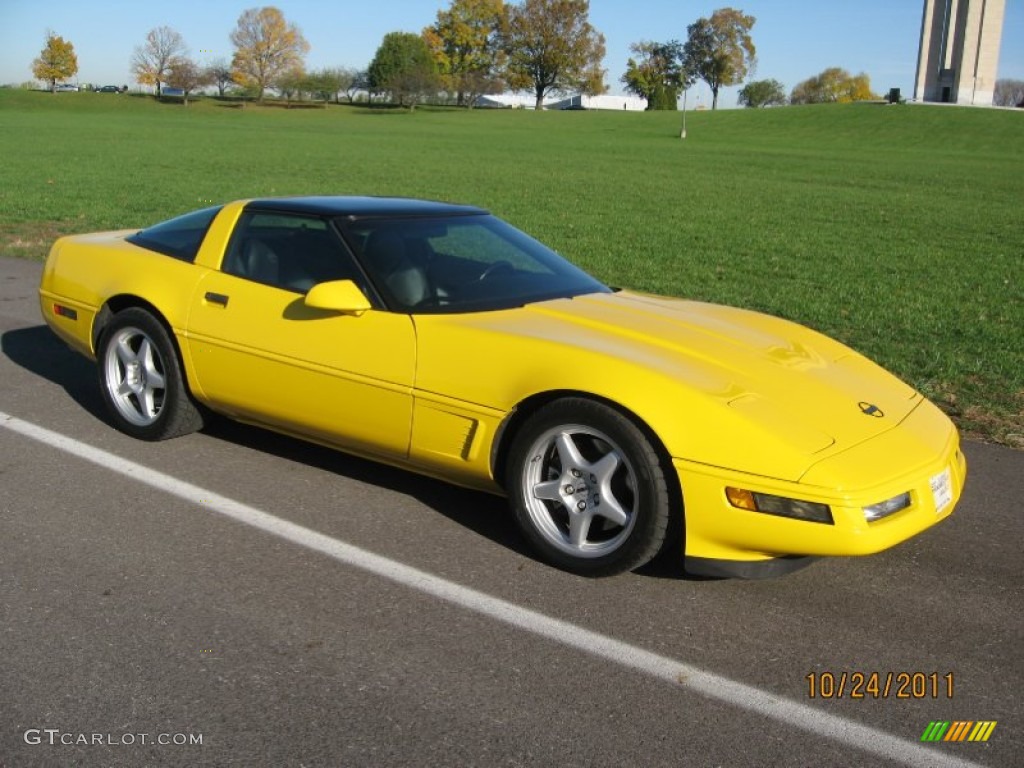
[[504,0],[452,0],[423,31],[441,83],[460,106],[472,106],[477,97],[501,90],[504,22]]

